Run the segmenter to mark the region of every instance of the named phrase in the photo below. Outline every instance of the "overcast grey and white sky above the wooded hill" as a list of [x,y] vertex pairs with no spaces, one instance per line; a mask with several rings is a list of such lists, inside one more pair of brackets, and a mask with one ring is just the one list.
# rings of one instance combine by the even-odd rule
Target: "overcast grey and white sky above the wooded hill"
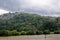
[[[40,15],[60,15],[60,0],[0,0],[1,10],[33,12]],[[5,12],[5,13],[6,13]]]

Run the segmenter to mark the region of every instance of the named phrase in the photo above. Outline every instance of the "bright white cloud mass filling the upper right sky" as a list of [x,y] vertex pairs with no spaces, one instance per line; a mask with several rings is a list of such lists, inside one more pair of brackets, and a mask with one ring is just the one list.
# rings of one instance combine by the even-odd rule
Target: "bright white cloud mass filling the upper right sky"
[[23,8],[46,9],[52,11],[60,10],[60,0],[22,0],[21,4]]

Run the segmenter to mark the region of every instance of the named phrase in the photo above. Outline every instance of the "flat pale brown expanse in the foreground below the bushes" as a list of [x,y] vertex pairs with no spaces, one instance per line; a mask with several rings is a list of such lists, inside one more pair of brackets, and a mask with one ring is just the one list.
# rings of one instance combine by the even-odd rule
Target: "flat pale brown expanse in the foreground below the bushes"
[[60,40],[60,34],[0,37],[0,40]]

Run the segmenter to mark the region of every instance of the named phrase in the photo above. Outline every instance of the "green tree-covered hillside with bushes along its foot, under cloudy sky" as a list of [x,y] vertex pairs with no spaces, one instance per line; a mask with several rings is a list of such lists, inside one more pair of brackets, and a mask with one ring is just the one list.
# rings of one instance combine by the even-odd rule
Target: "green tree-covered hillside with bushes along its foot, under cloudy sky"
[[60,18],[9,13],[0,16],[0,36],[60,34]]

